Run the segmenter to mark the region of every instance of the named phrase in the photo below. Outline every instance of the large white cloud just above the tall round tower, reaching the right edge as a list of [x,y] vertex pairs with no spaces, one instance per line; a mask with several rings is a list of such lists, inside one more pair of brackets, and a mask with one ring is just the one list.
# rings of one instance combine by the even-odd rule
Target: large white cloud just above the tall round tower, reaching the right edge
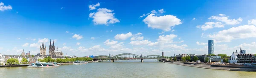
[[210,34],[208,37],[213,38],[216,42],[230,42],[234,39],[256,38],[256,27],[253,25],[232,27],[213,35]]

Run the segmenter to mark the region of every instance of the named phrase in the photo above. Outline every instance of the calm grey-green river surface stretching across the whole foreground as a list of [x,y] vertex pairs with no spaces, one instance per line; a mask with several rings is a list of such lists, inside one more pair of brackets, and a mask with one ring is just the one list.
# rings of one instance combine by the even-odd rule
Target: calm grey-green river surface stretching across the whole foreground
[[51,68],[1,67],[0,78],[255,78],[256,72],[202,69],[155,60],[121,60]]

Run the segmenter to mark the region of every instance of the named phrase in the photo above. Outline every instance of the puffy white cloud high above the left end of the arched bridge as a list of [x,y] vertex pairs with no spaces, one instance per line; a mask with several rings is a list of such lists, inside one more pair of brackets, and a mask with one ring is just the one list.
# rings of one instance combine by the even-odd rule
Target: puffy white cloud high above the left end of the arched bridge
[[93,12],[89,14],[90,18],[93,18],[93,22],[95,25],[98,24],[108,24],[118,23],[120,22],[118,19],[114,17],[115,13],[112,13],[113,10],[106,8],[99,8],[97,12]]

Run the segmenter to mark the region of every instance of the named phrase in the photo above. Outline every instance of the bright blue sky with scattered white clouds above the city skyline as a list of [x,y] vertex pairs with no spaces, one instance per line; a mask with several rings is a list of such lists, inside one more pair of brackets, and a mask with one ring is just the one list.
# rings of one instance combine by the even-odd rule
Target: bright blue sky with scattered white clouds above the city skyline
[[[0,0],[0,53],[39,53],[55,40],[64,54],[173,56],[246,49],[256,53],[256,1]],[[47,49],[48,54],[48,49]]]

